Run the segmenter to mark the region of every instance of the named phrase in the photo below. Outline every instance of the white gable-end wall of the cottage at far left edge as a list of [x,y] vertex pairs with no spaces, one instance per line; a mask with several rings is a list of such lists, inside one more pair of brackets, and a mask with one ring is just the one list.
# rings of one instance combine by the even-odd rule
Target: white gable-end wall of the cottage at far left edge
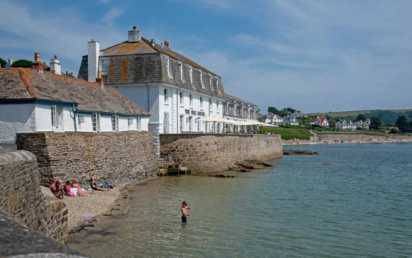
[[0,105],[0,143],[15,143],[17,132],[35,132],[34,104]]

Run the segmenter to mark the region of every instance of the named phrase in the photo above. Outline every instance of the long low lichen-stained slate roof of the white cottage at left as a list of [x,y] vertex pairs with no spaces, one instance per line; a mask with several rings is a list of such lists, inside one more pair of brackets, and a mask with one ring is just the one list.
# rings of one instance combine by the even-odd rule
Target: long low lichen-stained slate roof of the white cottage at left
[[0,101],[41,99],[75,103],[79,111],[150,115],[109,86],[33,69],[0,69]]

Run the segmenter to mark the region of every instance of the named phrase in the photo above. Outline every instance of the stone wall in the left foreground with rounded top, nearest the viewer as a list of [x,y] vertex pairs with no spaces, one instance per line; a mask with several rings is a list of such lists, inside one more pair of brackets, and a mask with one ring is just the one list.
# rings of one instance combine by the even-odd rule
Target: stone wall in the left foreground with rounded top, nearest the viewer
[[[1,151],[0,152],[4,152]],[[0,209],[18,222],[67,242],[67,208],[47,200],[40,187],[36,156],[26,151],[0,153]]]

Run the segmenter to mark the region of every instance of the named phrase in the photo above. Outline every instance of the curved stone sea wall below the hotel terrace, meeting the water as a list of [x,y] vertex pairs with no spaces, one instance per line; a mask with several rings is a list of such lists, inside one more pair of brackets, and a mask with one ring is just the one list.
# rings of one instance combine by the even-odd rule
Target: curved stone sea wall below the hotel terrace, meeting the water
[[236,161],[283,155],[280,136],[263,134],[160,134],[160,155],[168,152],[194,173],[224,171]]

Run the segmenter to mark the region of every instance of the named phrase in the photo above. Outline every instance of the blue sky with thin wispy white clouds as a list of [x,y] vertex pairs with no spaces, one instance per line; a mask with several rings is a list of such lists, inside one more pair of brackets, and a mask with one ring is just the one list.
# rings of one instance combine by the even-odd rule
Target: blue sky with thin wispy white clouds
[[0,0],[0,58],[77,75],[87,41],[167,40],[225,93],[304,113],[412,108],[409,0]]

